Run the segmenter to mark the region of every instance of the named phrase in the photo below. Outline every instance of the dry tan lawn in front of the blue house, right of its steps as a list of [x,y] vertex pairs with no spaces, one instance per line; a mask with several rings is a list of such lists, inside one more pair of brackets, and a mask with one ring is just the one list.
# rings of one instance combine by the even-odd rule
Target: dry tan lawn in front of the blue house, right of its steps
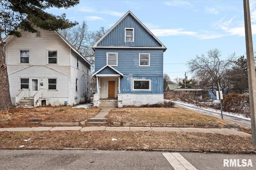
[[110,122],[136,123],[214,123],[222,127],[230,122],[184,108],[120,108],[110,111]]

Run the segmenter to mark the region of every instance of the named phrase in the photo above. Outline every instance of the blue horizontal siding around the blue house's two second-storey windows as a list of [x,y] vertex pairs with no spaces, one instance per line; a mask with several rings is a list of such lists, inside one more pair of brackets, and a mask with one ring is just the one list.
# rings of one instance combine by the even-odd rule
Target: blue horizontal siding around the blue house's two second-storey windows
[[[95,71],[107,64],[106,53],[118,53],[118,66],[124,75],[163,76],[163,49],[96,49]],[[150,53],[150,66],[139,66],[139,53]]]

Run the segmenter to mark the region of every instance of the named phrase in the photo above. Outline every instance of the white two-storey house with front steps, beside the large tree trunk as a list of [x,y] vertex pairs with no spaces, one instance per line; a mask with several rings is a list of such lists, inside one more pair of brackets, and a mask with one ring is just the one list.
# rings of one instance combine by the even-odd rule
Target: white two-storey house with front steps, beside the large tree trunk
[[91,64],[57,31],[35,29],[3,39],[12,104],[24,98],[34,107],[89,100]]

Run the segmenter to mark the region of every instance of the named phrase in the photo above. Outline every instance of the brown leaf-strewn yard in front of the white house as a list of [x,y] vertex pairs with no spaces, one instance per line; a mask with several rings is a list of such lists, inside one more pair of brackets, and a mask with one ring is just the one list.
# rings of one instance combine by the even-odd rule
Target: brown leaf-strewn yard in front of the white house
[[72,106],[12,108],[0,111],[0,127],[38,126],[28,124],[29,119],[39,118],[42,122],[81,122],[100,112],[99,108],[72,108]]

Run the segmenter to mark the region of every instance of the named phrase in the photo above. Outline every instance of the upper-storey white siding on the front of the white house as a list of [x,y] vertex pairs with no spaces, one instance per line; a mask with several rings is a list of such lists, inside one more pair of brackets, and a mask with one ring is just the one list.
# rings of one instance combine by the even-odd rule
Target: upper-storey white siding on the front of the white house
[[22,37],[15,37],[6,47],[6,63],[17,65],[20,61],[20,50],[30,50],[30,63],[22,65],[56,65],[47,64],[47,50],[58,51],[58,65],[70,66],[70,47],[54,32],[46,31],[35,27],[41,31],[41,37],[36,37],[36,33],[22,31]]

